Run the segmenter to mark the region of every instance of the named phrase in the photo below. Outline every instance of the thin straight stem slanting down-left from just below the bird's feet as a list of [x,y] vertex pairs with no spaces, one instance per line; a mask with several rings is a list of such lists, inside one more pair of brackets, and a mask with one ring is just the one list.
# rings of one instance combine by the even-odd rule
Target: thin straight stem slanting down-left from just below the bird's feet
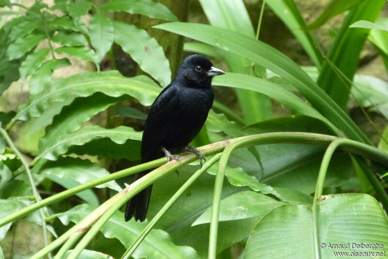
[[168,202],[162,207],[161,210],[152,218],[148,225],[143,229],[142,233],[137,237],[137,239],[129,246],[128,250],[124,253],[121,259],[128,259],[132,253],[136,250],[139,244],[146,238],[149,231],[155,226],[156,223],[162,218],[164,213],[171,208],[171,206],[178,200],[178,198],[194,183],[194,181],[200,177],[206,170],[209,169],[215,162],[217,162],[221,157],[221,153],[216,154],[204,166],[197,170],[193,176],[191,176],[179,190],[168,200]]

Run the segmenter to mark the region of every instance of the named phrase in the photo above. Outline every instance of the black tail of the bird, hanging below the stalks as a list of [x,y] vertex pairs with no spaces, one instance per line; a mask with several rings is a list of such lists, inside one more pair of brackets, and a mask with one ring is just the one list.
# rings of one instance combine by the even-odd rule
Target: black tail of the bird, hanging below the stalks
[[[136,175],[136,180],[148,174],[151,170],[140,172]],[[125,208],[125,221],[129,221],[135,215],[135,221],[141,222],[146,220],[149,198],[151,196],[152,184],[140,193],[133,196]]]

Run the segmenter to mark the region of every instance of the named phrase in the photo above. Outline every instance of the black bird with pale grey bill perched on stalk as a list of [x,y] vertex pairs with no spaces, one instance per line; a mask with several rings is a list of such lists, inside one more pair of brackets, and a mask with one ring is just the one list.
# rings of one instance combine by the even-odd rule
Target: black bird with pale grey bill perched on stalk
[[[159,159],[163,153],[168,161],[179,161],[179,156],[171,153],[186,148],[200,157],[202,166],[204,156],[188,145],[201,130],[213,104],[211,79],[223,74],[224,71],[213,67],[202,55],[191,55],[183,61],[175,79],[162,90],[148,113],[142,138],[142,163]],[[136,180],[151,170],[137,173]],[[136,221],[146,219],[151,190],[152,185],[128,201],[125,221],[132,215]]]

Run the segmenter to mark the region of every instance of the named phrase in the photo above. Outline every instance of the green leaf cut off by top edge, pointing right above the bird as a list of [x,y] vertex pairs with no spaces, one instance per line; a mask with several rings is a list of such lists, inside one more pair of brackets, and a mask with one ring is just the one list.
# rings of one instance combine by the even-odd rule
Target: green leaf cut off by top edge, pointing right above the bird
[[135,15],[145,15],[167,21],[178,21],[166,6],[151,0],[110,0],[102,6],[104,10],[113,12],[127,12]]

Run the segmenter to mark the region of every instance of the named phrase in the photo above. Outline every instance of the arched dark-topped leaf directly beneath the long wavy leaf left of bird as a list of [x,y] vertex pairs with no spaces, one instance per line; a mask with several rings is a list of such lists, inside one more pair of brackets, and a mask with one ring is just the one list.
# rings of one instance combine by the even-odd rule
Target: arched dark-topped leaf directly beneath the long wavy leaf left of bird
[[39,151],[43,151],[47,146],[52,146],[58,137],[79,129],[93,115],[123,99],[125,97],[110,97],[101,93],[96,93],[90,97],[76,98],[70,105],[65,106],[46,128],[45,136],[39,140]]

